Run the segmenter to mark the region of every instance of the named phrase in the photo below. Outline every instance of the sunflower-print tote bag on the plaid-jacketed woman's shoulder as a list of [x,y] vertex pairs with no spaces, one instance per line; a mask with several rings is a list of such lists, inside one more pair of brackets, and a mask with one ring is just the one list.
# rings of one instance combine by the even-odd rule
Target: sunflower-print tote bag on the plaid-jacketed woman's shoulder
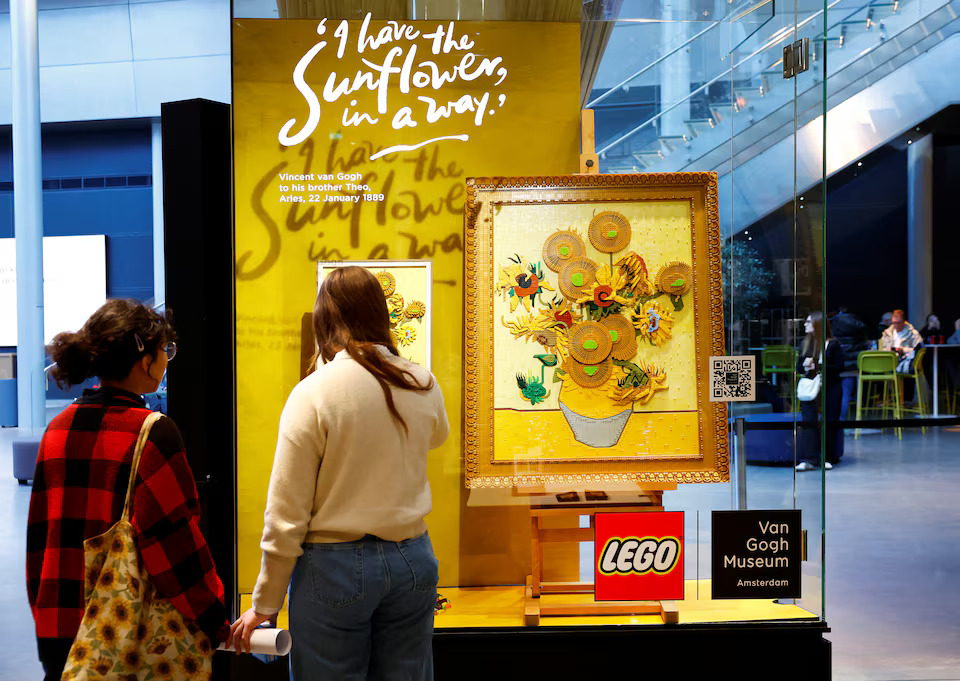
[[61,681],[187,681],[209,679],[213,646],[141,572],[130,524],[137,466],[153,424],[143,422],[130,466],[120,520],[83,543],[86,610]]

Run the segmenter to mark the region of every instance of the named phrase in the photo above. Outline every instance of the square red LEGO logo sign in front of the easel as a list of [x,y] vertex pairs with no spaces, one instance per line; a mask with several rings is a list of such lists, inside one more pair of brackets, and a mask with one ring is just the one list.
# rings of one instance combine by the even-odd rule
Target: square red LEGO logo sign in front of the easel
[[683,513],[597,513],[598,601],[683,599]]

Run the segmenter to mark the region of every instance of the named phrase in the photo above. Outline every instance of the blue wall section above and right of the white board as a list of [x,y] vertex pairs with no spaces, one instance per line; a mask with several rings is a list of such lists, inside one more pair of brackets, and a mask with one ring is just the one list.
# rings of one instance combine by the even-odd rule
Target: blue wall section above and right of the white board
[[[149,176],[149,121],[43,126],[43,178]],[[0,183],[13,179],[10,128],[0,129]],[[0,188],[0,237],[11,237],[13,194]],[[153,297],[153,190],[149,185],[43,192],[45,236],[107,235],[107,295]]]

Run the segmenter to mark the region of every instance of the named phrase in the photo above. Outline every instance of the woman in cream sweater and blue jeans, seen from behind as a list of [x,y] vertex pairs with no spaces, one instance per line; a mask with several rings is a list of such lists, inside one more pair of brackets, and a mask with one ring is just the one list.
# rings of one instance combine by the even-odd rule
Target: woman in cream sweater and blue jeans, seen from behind
[[289,585],[296,681],[432,679],[438,573],[424,517],[427,452],[449,433],[443,395],[398,355],[367,270],[324,279],[313,328],[318,366],[280,417],[253,607],[231,637],[249,651]]

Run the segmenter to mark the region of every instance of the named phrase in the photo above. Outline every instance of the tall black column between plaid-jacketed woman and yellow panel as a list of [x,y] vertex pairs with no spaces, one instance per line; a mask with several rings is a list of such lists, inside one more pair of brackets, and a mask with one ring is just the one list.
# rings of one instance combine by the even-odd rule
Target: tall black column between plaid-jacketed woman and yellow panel
[[[166,302],[177,329],[167,373],[169,415],[180,427],[223,580],[236,592],[236,399],[230,107],[189,100],[161,106]],[[214,656],[228,679],[230,656]]]

